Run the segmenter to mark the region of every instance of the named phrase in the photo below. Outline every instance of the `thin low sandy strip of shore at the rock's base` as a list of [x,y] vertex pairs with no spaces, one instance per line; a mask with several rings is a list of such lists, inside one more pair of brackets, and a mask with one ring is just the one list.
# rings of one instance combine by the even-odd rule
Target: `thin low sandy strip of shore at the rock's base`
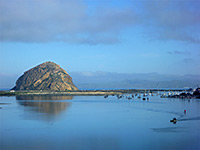
[[45,90],[23,90],[23,91],[0,91],[0,96],[17,95],[66,95],[66,96],[103,96],[122,95],[130,93],[156,93],[156,92],[182,92],[184,89],[119,89],[119,90],[78,90],[78,91],[45,91]]

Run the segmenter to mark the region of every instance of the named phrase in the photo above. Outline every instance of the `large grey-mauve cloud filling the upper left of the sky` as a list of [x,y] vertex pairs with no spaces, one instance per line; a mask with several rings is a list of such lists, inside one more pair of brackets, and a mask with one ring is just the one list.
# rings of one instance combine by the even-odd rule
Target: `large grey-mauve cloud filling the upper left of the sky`
[[1,41],[113,44],[136,20],[130,9],[102,8],[88,14],[79,0],[1,0],[0,9]]

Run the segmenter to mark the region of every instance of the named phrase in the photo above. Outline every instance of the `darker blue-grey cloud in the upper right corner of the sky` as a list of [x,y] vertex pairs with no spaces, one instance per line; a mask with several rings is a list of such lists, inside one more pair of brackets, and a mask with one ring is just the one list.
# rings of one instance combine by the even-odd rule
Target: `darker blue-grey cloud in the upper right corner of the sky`
[[154,28],[156,38],[200,44],[200,1],[151,0],[143,5],[143,21]]

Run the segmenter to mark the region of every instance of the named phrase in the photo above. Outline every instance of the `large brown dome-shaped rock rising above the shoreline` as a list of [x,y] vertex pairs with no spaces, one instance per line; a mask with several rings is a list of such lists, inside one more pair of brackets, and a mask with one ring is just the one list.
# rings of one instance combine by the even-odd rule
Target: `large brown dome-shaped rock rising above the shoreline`
[[78,90],[72,78],[59,65],[45,62],[26,72],[19,77],[14,90],[51,90],[67,91]]

